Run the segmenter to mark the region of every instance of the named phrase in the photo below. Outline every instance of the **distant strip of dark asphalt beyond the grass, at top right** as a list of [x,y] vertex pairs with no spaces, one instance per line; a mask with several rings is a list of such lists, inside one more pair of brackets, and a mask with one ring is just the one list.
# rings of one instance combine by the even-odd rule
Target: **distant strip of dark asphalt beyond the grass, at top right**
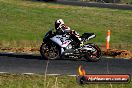
[[88,6],[88,7],[132,10],[132,5],[127,5],[127,4],[123,5],[123,4],[112,4],[112,3],[79,2],[79,1],[66,1],[66,0],[57,0],[56,3],[65,4],[65,5],[76,5],[76,6]]

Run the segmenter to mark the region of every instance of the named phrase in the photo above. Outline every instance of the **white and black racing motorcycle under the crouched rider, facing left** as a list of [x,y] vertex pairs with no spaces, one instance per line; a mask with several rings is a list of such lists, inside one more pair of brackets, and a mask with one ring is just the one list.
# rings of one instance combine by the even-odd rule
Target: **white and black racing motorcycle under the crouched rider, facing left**
[[[84,33],[80,38],[84,43],[95,37],[94,33]],[[72,35],[60,35],[50,29],[43,38],[40,54],[44,59],[85,58],[86,60],[95,62],[101,58],[101,49],[93,43],[80,46],[80,44],[74,41]]]

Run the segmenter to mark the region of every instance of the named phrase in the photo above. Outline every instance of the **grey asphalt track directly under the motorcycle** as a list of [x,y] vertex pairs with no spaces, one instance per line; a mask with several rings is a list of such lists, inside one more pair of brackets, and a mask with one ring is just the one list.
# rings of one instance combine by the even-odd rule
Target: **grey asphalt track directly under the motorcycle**
[[87,74],[131,74],[132,60],[102,58],[99,62],[85,60],[42,60],[39,55],[0,53],[0,73],[35,73],[76,75],[82,65]]

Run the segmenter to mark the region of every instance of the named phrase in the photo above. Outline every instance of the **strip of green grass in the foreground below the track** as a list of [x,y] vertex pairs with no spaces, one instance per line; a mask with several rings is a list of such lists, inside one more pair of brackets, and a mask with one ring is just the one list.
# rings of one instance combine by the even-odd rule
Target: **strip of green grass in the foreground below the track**
[[127,84],[85,84],[77,83],[76,77],[0,74],[0,88],[131,88]]

